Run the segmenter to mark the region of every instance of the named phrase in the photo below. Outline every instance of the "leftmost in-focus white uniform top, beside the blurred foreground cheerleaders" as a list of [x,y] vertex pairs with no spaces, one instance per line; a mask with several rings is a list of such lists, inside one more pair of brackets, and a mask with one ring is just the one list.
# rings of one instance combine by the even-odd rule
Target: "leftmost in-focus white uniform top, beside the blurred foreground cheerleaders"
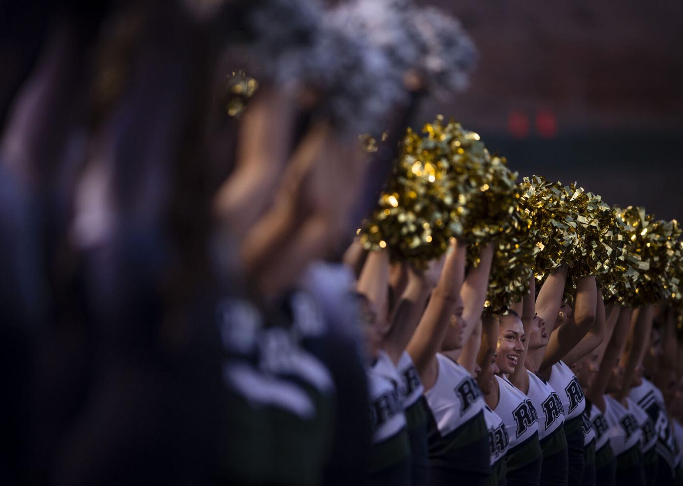
[[367,373],[370,387],[372,442],[385,442],[406,428],[399,386],[401,377],[384,351]]

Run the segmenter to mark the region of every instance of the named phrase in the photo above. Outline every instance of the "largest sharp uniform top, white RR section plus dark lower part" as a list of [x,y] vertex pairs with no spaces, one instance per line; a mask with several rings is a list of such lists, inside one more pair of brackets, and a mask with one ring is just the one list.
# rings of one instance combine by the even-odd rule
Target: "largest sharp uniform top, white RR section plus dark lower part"
[[449,471],[490,474],[482,390],[469,372],[449,357],[437,353],[436,362],[436,381],[425,393],[430,411],[428,443],[432,485],[441,482],[436,476],[446,482]]

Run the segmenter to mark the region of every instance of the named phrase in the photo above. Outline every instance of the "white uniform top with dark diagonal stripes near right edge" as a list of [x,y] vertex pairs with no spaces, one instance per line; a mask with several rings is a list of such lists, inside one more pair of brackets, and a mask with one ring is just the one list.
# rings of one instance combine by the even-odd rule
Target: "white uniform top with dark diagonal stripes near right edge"
[[657,454],[669,464],[673,474],[679,449],[673,436],[673,427],[669,421],[662,392],[650,380],[643,378],[643,383],[631,388],[628,396],[650,416],[657,434]]

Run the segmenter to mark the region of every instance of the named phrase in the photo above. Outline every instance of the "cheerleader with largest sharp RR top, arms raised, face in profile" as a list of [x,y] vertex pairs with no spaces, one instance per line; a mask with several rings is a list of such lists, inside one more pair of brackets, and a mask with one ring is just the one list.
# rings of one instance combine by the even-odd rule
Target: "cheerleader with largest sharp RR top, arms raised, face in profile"
[[438,351],[462,349],[469,340],[484,306],[492,254],[488,245],[480,254],[479,266],[464,280],[466,247],[451,243],[438,284],[408,343],[430,409],[433,486],[486,485],[491,474],[482,392],[466,368]]

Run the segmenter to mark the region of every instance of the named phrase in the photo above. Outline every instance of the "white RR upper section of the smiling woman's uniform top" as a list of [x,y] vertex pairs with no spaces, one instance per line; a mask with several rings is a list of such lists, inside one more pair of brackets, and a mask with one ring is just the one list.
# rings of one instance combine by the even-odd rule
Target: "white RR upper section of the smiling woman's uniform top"
[[538,416],[527,395],[518,390],[507,378],[496,376],[496,379],[499,390],[498,405],[493,411],[505,422],[512,452],[534,435],[538,437]]

